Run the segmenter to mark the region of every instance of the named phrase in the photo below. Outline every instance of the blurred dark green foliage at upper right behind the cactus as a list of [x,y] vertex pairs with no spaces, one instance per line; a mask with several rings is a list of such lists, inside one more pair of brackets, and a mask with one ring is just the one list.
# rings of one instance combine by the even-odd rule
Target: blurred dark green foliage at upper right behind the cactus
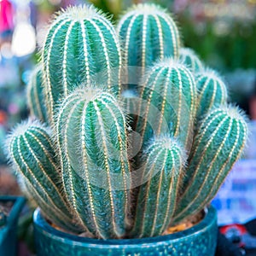
[[216,34],[218,24],[212,20],[201,24],[201,29],[186,13],[178,15],[177,20],[185,46],[195,49],[208,65],[223,71],[256,68],[256,19],[251,24],[235,21],[224,35]]

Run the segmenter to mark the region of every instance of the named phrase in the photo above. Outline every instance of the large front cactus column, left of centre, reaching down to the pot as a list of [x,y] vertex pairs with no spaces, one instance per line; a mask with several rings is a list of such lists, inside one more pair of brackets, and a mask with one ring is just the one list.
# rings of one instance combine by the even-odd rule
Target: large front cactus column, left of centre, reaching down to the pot
[[80,220],[99,238],[124,236],[130,173],[118,102],[104,90],[75,90],[56,124],[63,183]]

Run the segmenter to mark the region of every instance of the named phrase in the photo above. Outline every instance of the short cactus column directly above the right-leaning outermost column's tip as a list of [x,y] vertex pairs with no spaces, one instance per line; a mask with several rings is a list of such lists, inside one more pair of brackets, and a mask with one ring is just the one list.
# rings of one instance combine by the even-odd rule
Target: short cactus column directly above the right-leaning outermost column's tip
[[211,69],[195,76],[198,90],[196,118],[201,119],[213,107],[227,104],[227,89],[218,73]]

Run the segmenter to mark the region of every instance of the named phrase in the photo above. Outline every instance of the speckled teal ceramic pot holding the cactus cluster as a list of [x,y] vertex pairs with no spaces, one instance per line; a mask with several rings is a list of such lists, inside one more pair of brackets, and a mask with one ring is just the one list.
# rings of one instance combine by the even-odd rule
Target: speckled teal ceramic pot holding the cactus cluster
[[34,232],[38,256],[107,256],[107,255],[183,255],[212,256],[217,243],[217,213],[207,209],[194,227],[167,236],[143,239],[96,240],[55,230],[39,209],[34,212]]

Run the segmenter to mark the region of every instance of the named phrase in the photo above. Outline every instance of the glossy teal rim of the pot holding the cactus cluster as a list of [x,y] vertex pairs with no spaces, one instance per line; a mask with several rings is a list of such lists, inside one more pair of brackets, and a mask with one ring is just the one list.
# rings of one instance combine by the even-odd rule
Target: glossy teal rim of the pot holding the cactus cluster
[[55,240],[61,240],[65,243],[72,243],[74,244],[90,244],[91,247],[94,246],[113,246],[113,247],[132,247],[132,245],[145,245],[149,244],[152,246],[153,244],[157,243],[163,243],[165,241],[170,242],[172,240],[173,242],[177,240],[185,240],[188,239],[189,236],[195,236],[197,233],[206,232],[207,230],[212,228],[212,225],[217,225],[217,212],[214,207],[210,206],[205,209],[205,216],[199,222],[198,224],[195,224],[193,227],[179,231],[170,235],[164,235],[164,236],[154,236],[154,237],[146,237],[146,238],[131,238],[131,239],[96,239],[96,238],[88,238],[88,237],[82,237],[82,236],[76,236],[69,233],[66,233],[61,230],[56,230],[54,227],[52,227],[43,217],[42,212],[39,208],[37,208],[33,214],[33,222],[36,229],[41,230],[41,232],[44,232],[44,236],[51,236],[51,238]]

